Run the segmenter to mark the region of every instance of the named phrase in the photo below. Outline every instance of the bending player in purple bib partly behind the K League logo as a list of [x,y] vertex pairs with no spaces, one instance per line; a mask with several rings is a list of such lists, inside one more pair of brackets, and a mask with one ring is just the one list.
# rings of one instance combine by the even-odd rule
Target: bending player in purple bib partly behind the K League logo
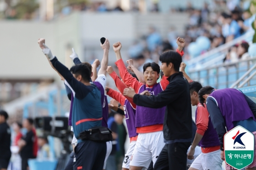
[[[215,90],[206,86],[201,88],[198,95],[200,103],[206,103],[213,127],[219,135],[222,160],[224,160],[223,139],[227,131],[240,125],[256,137],[256,103],[240,90],[234,88]],[[226,167],[226,170],[229,170],[229,167]],[[245,170],[256,170],[256,152],[252,164],[245,167]]]

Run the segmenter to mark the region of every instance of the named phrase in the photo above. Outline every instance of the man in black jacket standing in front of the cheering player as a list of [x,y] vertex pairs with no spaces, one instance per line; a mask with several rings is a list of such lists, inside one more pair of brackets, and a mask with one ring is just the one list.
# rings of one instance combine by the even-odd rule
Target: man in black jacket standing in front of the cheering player
[[[136,90],[130,87],[124,89],[123,95],[133,98],[133,102],[137,105],[136,116],[139,106],[149,108],[148,112],[144,112],[144,115],[148,117],[151,117],[150,113],[152,113],[153,108],[166,106],[163,131],[164,142],[167,149],[162,149],[158,159],[161,160],[162,156],[165,157],[165,155],[168,155],[167,161],[169,162],[170,170],[186,170],[187,149],[192,141],[192,114],[189,84],[183,77],[182,72],[179,72],[182,59],[178,52],[164,52],[160,55],[160,62],[162,63],[161,69],[164,72],[163,79],[168,77],[167,80],[169,81],[165,90],[155,95],[151,95],[151,93],[149,93],[150,91],[146,90],[140,95],[136,94]],[[161,113],[155,110],[153,114],[159,117],[161,116]],[[140,133],[137,143],[139,137]],[[155,142],[156,138],[152,136],[151,139],[148,140],[146,139],[145,142]],[[134,155],[136,154],[135,149]],[[132,162],[133,160],[131,164]]]

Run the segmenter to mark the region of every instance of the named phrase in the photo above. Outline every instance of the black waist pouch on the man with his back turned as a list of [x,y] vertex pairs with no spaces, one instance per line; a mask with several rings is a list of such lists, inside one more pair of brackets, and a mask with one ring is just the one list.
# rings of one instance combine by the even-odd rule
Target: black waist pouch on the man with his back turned
[[112,131],[106,127],[98,126],[85,130],[79,134],[81,140],[91,140],[95,142],[108,142],[112,141]]

